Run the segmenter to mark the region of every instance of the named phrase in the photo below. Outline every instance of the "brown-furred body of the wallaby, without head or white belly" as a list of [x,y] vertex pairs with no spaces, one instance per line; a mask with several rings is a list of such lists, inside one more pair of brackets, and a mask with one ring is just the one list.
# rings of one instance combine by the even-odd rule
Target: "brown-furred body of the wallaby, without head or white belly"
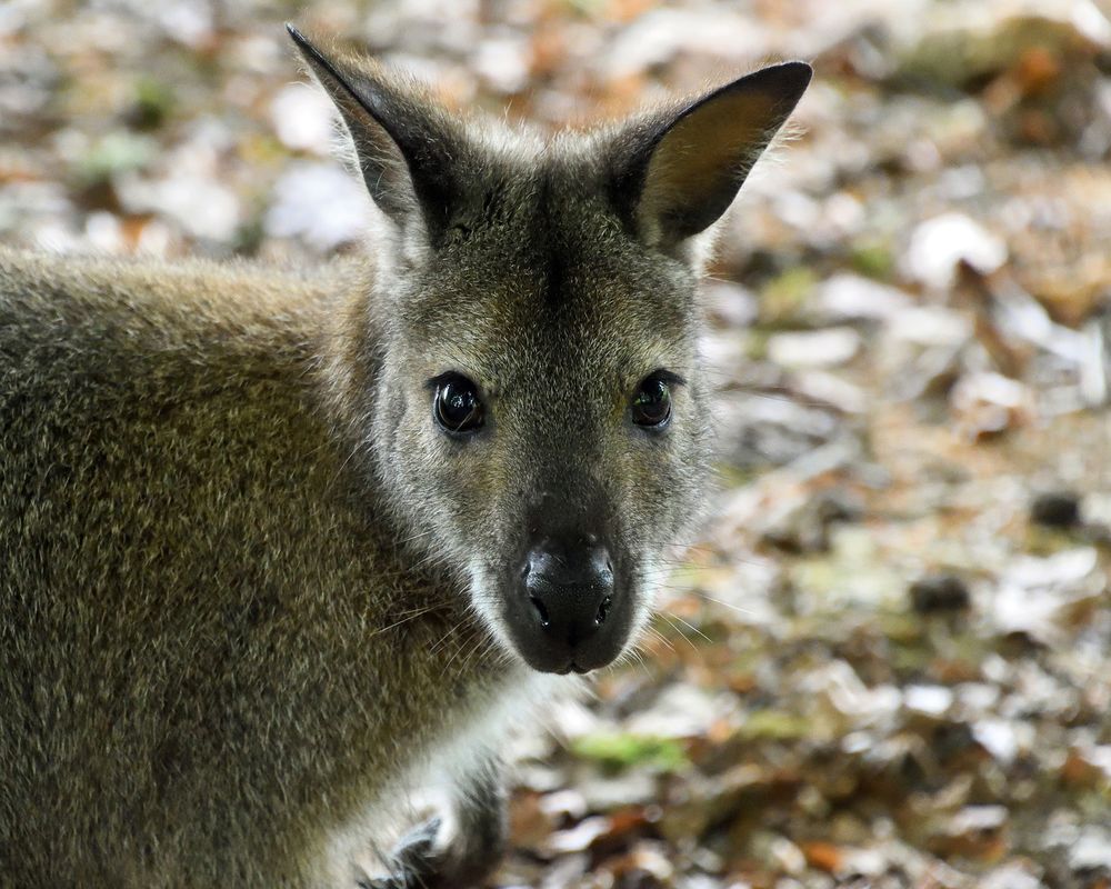
[[4,885],[300,885],[481,697],[427,657],[461,600],[339,471],[359,278],[0,253]]

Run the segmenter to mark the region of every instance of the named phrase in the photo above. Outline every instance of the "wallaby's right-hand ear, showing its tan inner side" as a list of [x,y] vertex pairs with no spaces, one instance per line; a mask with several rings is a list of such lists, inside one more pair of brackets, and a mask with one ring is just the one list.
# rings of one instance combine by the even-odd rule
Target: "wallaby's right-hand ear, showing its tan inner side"
[[812,73],[805,62],[764,68],[623,133],[614,199],[639,237],[667,250],[717,221]]

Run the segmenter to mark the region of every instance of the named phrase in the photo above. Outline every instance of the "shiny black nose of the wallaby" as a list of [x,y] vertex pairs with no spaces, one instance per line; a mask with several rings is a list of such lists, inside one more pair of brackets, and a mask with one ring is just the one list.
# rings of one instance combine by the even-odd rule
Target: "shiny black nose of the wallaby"
[[605,625],[613,605],[609,551],[590,540],[544,540],[529,550],[522,572],[540,633],[573,659]]

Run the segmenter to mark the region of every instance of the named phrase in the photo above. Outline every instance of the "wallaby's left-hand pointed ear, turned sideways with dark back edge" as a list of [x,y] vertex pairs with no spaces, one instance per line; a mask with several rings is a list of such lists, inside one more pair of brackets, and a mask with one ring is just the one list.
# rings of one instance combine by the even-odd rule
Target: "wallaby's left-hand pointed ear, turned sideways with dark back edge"
[[420,218],[437,240],[458,200],[460,128],[417,84],[373,62],[326,56],[292,24],[286,30],[339,109],[374,203],[400,227]]

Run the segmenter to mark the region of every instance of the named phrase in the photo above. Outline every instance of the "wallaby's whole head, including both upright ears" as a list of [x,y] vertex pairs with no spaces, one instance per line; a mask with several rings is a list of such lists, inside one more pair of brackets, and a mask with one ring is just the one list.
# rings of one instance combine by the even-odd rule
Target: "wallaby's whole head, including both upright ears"
[[609,663],[703,490],[703,242],[810,67],[541,140],[290,33],[392,243],[351,357],[370,391],[348,396],[373,470],[506,650],[543,671]]

